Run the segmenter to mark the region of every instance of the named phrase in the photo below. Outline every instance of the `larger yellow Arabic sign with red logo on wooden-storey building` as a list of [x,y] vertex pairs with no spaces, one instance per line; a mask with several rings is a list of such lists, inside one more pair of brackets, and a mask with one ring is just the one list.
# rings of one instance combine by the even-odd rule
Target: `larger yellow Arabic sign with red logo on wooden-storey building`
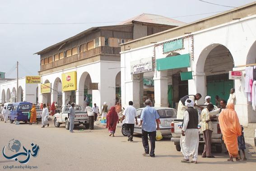
[[76,71],[62,74],[62,91],[76,90]]

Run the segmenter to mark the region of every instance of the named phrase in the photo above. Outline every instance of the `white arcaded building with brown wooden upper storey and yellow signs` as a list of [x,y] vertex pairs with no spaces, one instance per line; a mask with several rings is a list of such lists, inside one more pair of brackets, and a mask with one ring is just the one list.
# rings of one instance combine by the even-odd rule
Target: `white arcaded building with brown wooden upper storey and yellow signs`
[[165,25],[135,18],[120,25],[90,28],[37,52],[42,77],[39,102],[62,106],[70,102],[84,105],[86,100],[90,105],[107,102],[114,106],[121,101],[120,44],[183,24],[172,21],[173,25]]

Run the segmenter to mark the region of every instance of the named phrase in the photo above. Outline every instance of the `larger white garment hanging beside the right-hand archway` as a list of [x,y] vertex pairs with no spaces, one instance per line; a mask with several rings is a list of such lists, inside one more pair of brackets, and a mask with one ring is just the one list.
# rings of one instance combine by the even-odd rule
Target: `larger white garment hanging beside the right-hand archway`
[[[248,102],[251,102],[251,87],[252,87],[252,80],[253,80],[253,67],[247,66],[245,69],[245,88],[244,92],[247,93]],[[251,82],[251,85],[250,85]]]

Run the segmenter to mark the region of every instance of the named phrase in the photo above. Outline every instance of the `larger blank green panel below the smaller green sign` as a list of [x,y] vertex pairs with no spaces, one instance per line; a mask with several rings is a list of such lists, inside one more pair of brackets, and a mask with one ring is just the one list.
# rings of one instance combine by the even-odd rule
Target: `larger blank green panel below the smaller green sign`
[[156,60],[157,70],[177,69],[190,67],[190,55],[176,55]]

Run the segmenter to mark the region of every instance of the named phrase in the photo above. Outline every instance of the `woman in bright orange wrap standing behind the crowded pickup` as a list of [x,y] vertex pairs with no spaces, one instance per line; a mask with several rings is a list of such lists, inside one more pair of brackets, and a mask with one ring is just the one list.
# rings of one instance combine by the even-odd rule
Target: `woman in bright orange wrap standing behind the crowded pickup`
[[237,137],[242,133],[237,112],[234,110],[234,104],[228,103],[226,109],[219,114],[219,126],[223,134],[223,140],[229,153],[228,161],[233,162],[233,157],[238,161],[238,143]]

